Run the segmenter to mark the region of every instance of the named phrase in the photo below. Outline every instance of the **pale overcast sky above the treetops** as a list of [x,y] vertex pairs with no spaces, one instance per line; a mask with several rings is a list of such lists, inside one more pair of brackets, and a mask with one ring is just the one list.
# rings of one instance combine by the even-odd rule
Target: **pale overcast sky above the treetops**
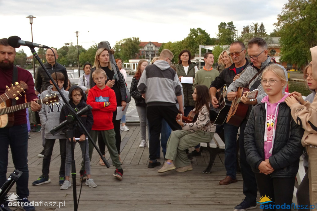
[[[250,3],[253,2],[253,3]],[[26,16],[33,15],[33,41],[61,48],[64,43],[88,49],[107,40],[139,37],[140,41],[175,42],[191,28],[202,28],[217,37],[220,22],[230,22],[241,32],[243,26],[263,22],[268,33],[287,0],[0,0],[1,38],[13,35],[31,41]],[[21,47],[31,55],[28,47]],[[20,49],[21,49],[20,48]],[[19,50],[19,49],[17,49]],[[37,50],[37,49],[36,49]]]

